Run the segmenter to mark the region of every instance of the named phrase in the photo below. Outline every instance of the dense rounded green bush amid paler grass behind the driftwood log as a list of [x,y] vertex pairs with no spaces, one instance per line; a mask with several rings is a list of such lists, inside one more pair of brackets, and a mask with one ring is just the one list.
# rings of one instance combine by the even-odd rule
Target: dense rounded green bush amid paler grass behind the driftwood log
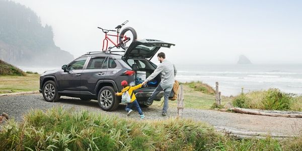
[[282,93],[279,89],[269,89],[262,103],[266,110],[290,110],[292,97],[290,94]]

